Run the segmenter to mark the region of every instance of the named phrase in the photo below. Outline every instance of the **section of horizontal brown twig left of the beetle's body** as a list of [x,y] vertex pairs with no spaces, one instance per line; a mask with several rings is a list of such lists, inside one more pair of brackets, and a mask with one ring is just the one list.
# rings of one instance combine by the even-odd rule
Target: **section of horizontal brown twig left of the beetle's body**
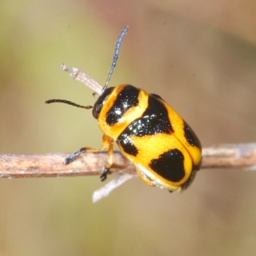
[[[70,154],[0,155],[1,178],[74,177],[100,175],[108,161],[107,152],[85,153],[65,165]],[[114,154],[111,173],[135,173],[134,166],[120,152]]]

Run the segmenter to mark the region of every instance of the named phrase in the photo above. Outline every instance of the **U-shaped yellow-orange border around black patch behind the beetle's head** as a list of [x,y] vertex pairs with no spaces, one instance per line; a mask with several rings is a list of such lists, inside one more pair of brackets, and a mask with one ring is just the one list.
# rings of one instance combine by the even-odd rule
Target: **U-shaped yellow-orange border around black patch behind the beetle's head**
[[114,124],[113,126],[109,126],[105,120],[106,115],[109,109],[113,106],[113,104],[115,104],[116,95],[118,95],[124,89],[125,86],[126,84],[116,86],[113,92],[109,95],[108,99],[106,99],[106,102],[104,103],[100,111],[100,129],[102,132],[104,132],[104,134],[107,134],[114,140],[116,140],[116,138],[120,136],[120,134],[129,124],[131,124],[137,118],[140,118],[148,107],[148,93],[144,90],[140,90],[138,95],[138,105],[127,109],[127,111],[120,118],[120,120],[116,122],[116,124]]

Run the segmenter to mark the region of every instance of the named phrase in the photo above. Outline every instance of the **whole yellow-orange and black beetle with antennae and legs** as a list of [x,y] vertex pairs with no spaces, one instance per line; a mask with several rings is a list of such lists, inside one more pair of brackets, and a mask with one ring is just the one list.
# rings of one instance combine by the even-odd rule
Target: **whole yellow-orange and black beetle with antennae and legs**
[[127,29],[125,26],[118,37],[108,79],[94,106],[56,99],[45,102],[93,108],[93,116],[104,133],[102,148],[81,148],[67,157],[65,164],[84,152],[108,150],[108,164],[100,176],[105,180],[113,164],[113,143],[116,141],[148,185],[181,192],[191,184],[201,165],[202,147],[195,132],[159,95],[148,94],[129,84],[108,88]]

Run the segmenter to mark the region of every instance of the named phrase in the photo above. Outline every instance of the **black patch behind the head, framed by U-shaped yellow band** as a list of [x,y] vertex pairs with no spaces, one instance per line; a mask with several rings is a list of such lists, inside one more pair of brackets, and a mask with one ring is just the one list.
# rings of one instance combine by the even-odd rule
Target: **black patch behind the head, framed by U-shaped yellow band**
[[129,84],[125,86],[124,89],[116,96],[113,106],[109,109],[106,115],[106,123],[109,126],[113,126],[129,108],[138,106],[139,93],[140,89]]

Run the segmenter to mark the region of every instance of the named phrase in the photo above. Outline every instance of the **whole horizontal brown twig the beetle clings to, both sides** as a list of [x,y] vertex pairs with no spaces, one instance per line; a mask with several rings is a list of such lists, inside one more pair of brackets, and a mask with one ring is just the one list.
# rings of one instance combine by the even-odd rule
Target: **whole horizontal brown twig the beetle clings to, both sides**
[[[70,154],[0,155],[1,178],[74,177],[100,175],[108,161],[107,152],[84,153],[76,161],[63,164]],[[115,152],[113,174],[134,174],[126,157]],[[244,168],[256,170],[256,143],[219,145],[203,149],[202,168]]]

